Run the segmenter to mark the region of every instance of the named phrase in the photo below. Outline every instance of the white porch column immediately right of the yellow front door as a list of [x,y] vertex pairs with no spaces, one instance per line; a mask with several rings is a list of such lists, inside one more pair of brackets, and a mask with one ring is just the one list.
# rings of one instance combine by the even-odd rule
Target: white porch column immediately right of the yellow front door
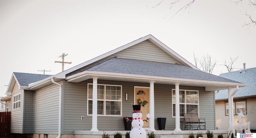
[[150,104],[150,119],[149,119],[149,130],[155,131],[155,101],[154,101],[154,82],[150,81],[150,93],[149,93],[149,104]]

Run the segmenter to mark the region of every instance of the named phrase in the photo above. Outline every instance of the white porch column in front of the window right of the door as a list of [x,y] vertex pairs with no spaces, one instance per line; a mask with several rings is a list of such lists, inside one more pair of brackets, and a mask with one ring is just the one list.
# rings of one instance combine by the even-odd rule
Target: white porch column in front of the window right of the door
[[175,83],[175,131],[180,129],[180,83]]

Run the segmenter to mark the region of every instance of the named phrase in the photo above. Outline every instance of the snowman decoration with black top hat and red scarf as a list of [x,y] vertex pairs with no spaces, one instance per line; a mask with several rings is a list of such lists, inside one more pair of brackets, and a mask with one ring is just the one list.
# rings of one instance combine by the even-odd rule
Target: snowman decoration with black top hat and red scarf
[[[146,138],[147,134],[144,128],[142,128],[144,122],[150,118],[150,115],[147,114],[147,119],[142,120],[142,113],[140,112],[140,105],[132,105],[132,130],[130,132],[130,138]],[[131,121],[126,117],[126,121]]]

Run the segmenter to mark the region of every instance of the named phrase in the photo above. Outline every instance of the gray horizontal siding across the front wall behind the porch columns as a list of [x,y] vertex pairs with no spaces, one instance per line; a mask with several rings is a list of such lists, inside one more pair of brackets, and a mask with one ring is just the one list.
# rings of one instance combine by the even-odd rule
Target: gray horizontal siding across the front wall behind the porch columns
[[[91,130],[92,128],[92,116],[87,116],[87,83],[92,83],[92,80],[80,83],[66,82],[64,85],[64,134],[73,134],[74,130]],[[98,80],[98,84],[122,85],[122,117],[98,116],[98,130],[124,130],[123,117],[132,117],[134,86],[149,87],[149,83]],[[158,130],[157,118],[166,117],[166,130],[174,130],[175,118],[172,118],[171,89],[175,86],[155,84],[154,87],[155,129]],[[213,92],[206,92],[203,87],[180,86],[180,89],[199,90],[200,118],[206,119],[207,129],[214,130]],[[128,93],[128,101],[125,101],[125,93]],[[85,117],[84,121],[80,120],[81,116]]]

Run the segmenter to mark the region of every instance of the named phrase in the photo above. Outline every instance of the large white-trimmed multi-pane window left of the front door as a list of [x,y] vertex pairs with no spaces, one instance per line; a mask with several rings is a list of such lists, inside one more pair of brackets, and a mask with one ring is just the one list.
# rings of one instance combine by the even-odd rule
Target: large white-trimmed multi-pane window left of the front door
[[[88,84],[88,115],[92,115],[92,84]],[[98,84],[98,115],[122,116],[122,86]]]

